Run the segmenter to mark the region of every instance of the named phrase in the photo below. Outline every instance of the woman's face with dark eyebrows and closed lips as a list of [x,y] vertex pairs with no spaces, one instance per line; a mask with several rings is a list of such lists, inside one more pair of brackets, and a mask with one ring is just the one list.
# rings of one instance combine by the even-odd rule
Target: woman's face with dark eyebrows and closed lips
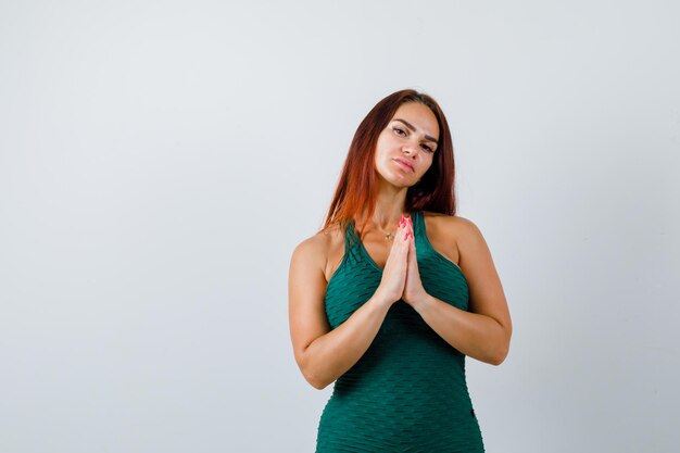
[[399,106],[376,144],[376,172],[398,187],[415,185],[432,165],[439,126],[432,111],[419,102]]

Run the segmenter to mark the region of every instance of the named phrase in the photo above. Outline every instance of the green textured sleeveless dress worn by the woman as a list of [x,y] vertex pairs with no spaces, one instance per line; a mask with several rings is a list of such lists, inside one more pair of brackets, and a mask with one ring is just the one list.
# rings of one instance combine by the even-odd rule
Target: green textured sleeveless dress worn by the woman
[[[423,212],[412,215],[425,290],[467,311],[463,272],[432,248]],[[326,316],[332,329],[374,294],[381,277],[382,269],[350,222],[344,256],[326,288]],[[368,350],[333,383],[318,424],[316,453],[483,451],[465,379],[465,355],[411,305],[395,302]]]

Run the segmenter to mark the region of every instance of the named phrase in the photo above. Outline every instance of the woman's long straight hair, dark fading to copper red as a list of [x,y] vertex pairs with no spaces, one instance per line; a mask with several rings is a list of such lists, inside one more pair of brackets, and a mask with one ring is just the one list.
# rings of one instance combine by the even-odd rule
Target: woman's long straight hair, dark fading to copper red
[[365,213],[365,218],[370,218],[375,212],[375,153],[378,136],[399,106],[406,102],[419,102],[432,111],[439,125],[439,141],[432,165],[416,185],[408,188],[405,209],[410,212],[430,211],[455,215],[455,165],[449,124],[435,99],[416,90],[405,89],[383,98],[356,128],[322,230],[336,224],[344,229],[350,221],[354,221],[362,213]]

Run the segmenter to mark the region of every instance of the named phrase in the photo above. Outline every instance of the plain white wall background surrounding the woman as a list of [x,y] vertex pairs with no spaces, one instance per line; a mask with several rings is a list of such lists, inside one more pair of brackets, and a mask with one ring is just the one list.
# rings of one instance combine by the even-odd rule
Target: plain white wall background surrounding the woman
[[0,452],[312,452],[293,248],[416,88],[514,337],[489,452],[680,448],[673,1],[0,3]]

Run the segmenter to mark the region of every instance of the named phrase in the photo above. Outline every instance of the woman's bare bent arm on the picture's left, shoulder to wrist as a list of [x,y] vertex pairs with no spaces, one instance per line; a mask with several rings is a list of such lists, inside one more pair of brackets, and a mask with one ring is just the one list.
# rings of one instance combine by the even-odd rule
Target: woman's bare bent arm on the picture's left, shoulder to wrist
[[364,355],[391,306],[376,292],[331,330],[324,307],[327,285],[324,240],[317,235],[295,248],[288,280],[290,335],[295,362],[304,378],[319,390],[342,376]]

